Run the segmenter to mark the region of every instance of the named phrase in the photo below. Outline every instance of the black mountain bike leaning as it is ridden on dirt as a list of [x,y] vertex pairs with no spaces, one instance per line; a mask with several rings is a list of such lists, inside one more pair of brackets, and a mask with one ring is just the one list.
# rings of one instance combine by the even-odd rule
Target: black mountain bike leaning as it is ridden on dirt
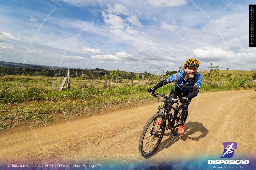
[[[161,100],[159,96],[165,100]],[[156,151],[163,138],[165,129],[171,130],[173,135],[177,135],[179,134],[177,127],[181,125],[181,105],[179,106],[179,103],[177,103],[179,96],[177,98],[170,98],[154,92],[154,97],[158,97],[158,111],[147,121],[139,140],[139,152],[143,157],[148,157]],[[177,105],[173,107],[170,103],[177,103]],[[170,109],[168,109],[169,107]],[[172,114],[171,109],[174,110],[174,114]],[[157,121],[161,121],[161,124]],[[166,122],[168,123],[167,126]]]

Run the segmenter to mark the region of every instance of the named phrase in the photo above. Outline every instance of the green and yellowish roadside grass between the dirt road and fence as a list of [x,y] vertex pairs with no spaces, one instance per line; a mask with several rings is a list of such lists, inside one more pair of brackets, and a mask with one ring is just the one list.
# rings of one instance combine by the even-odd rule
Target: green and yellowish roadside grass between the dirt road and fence
[[[241,77],[241,76],[240,76]],[[200,92],[221,91],[230,89],[256,88],[247,76],[243,79],[228,77],[224,85],[216,83],[202,84]],[[231,78],[231,79],[230,79]],[[141,85],[141,80],[134,80],[131,87],[129,80],[122,80],[118,85],[109,81],[106,89],[102,80],[76,81],[70,79],[71,89],[58,91],[61,81],[43,76],[3,76],[0,81],[0,130],[26,122],[37,122],[45,125],[56,118],[67,119],[73,115],[90,114],[94,109],[123,107],[127,104],[138,104],[141,101],[157,100],[149,96],[147,89],[157,81],[149,80]],[[92,81],[92,82],[91,82]],[[55,83],[52,85],[52,83]],[[81,85],[86,85],[81,88]],[[174,83],[165,85],[157,91],[168,95]],[[54,88],[57,87],[57,88]],[[111,107],[111,106],[115,107]]]

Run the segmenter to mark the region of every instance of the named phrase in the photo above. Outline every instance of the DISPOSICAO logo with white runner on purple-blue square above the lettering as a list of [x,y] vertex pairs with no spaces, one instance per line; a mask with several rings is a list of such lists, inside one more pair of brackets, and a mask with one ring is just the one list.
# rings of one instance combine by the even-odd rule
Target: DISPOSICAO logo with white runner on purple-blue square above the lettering
[[[236,142],[223,142],[224,151],[220,158],[232,158],[234,149],[237,149]],[[208,164],[249,164],[249,160],[208,160]]]

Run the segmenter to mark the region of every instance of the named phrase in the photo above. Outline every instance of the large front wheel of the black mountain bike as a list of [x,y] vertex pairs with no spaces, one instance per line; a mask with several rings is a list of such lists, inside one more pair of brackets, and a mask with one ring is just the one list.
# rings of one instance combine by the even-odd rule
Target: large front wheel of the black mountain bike
[[[139,140],[139,152],[141,156],[148,157],[152,155],[160,144],[163,138],[166,124],[166,122],[164,122],[158,138],[157,134],[159,133],[160,125],[158,125],[156,122],[160,121],[161,119],[162,121],[164,120],[164,114],[163,112],[159,111],[147,121]],[[151,129],[152,133],[150,134]]]

